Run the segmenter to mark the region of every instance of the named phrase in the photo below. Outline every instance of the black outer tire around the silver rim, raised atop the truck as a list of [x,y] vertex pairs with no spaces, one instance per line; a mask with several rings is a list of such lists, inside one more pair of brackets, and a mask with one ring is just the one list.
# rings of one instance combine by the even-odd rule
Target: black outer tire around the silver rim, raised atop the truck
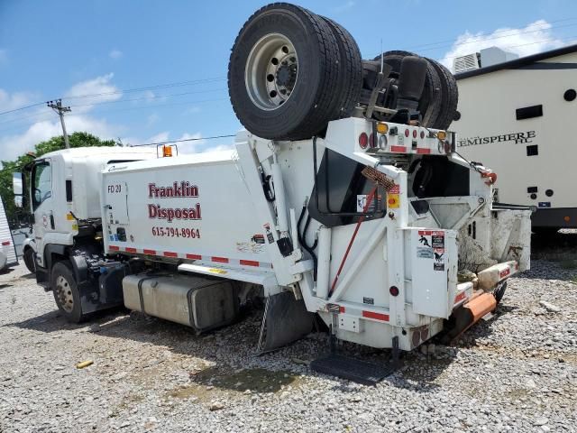
[[[253,102],[254,94],[249,94],[251,86],[245,83],[245,69],[250,67],[250,55],[257,42],[275,34],[294,47],[298,73],[288,99],[266,109],[266,105],[261,108]],[[262,58],[266,59],[264,55]],[[248,131],[262,138],[310,138],[332,120],[334,93],[339,83],[338,60],[337,41],[325,20],[296,5],[276,3],[262,7],[244,23],[231,52],[228,91],[234,113]],[[269,77],[267,74],[254,76],[254,82],[260,83],[260,79]],[[278,83],[279,75],[273,76],[271,82]],[[266,96],[267,92],[259,95]]]

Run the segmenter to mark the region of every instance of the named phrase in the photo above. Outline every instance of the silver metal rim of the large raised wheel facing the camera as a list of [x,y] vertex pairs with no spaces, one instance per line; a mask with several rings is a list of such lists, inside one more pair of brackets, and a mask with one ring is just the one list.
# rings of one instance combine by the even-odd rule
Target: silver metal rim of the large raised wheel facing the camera
[[289,100],[297,81],[298,56],[289,38],[271,33],[254,44],[246,61],[244,83],[255,106],[276,110]]

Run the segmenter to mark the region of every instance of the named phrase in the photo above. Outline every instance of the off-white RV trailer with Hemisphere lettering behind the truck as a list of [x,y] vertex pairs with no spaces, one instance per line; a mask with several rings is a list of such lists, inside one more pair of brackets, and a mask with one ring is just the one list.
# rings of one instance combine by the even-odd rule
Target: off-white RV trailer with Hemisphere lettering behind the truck
[[[482,65],[482,62],[481,62]],[[577,227],[577,45],[455,75],[457,152],[498,176],[496,200],[536,208],[534,231]]]

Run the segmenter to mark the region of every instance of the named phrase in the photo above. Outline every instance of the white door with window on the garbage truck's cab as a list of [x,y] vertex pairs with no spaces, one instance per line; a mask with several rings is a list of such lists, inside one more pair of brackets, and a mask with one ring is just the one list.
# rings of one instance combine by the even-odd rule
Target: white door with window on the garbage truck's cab
[[37,261],[44,263],[44,244],[48,233],[56,230],[52,201],[52,166],[50,158],[36,161],[32,167],[30,180],[32,215],[34,216],[34,238]]

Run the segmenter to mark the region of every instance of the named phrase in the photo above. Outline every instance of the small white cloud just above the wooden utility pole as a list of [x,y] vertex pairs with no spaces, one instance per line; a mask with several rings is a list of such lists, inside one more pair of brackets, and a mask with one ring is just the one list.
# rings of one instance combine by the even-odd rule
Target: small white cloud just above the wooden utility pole
[[[69,91],[64,94],[65,99],[66,97],[74,97],[66,101],[67,105],[75,106],[73,108],[75,113],[87,113],[93,108],[93,106],[90,106],[90,104],[116,101],[120,99],[123,97],[123,93],[119,88],[115,87],[110,82],[113,77],[114,74],[111,72],[109,74],[102,75],[93,79],[88,79],[86,81],[81,81],[75,84],[69,89]],[[79,97],[85,95],[94,96]]]

